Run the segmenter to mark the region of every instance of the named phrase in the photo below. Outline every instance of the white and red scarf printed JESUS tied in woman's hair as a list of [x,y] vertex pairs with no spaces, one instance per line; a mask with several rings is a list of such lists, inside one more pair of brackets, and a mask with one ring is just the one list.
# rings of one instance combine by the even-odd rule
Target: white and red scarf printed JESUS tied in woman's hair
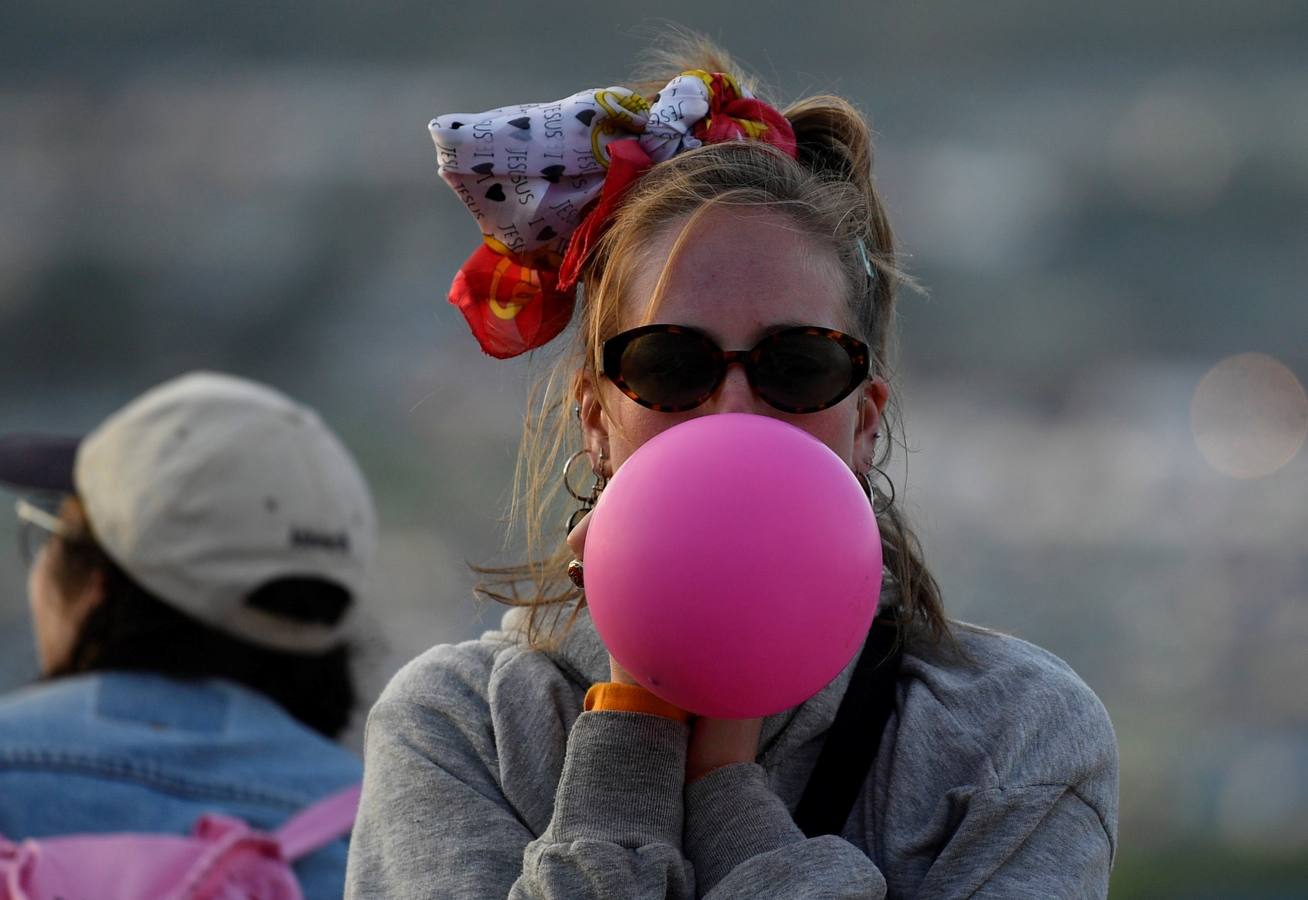
[[441,115],[429,130],[441,178],[483,238],[455,275],[450,302],[497,358],[564,330],[590,251],[650,166],[726,140],[759,140],[795,156],[781,113],[730,75],[700,69],[647,99],[602,88],[553,103]]

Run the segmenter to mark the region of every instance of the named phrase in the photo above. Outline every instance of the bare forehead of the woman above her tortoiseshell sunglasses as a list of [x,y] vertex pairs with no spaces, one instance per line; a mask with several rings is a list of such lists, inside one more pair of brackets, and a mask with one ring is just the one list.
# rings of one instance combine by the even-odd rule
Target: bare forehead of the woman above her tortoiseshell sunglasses
[[791,218],[769,209],[719,207],[688,221],[664,225],[633,260],[623,328],[672,322],[732,344],[778,324],[848,330],[835,250]]

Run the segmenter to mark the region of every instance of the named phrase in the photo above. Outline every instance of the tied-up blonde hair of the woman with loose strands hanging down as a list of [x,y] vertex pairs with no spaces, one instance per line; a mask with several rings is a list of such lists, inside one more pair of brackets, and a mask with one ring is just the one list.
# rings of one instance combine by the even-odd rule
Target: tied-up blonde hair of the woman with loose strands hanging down
[[[687,69],[739,72],[710,42],[685,34],[659,50],[654,65],[647,75],[661,72],[664,77],[650,77],[633,89],[653,94]],[[748,80],[738,80],[753,90]],[[889,460],[892,441],[886,423],[897,408],[889,356],[896,290],[905,276],[896,267],[893,234],[872,182],[871,131],[858,110],[840,97],[810,97],[782,114],[794,128],[798,158],[756,141],[727,141],[661,162],[630,188],[586,260],[577,327],[569,345],[534,385],[523,426],[509,522],[521,530],[527,559],[502,568],[475,566],[483,576],[479,594],[530,607],[526,629],[532,644],[561,637],[583,603],[565,574],[572,552],[564,542],[560,474],[577,449],[578,433],[568,413],[582,378],[598,378],[600,345],[620,327],[634,260],[671,222],[683,222],[684,237],[709,207],[763,207],[780,212],[797,230],[835,251],[846,285],[850,327],[872,351],[872,374],[891,386],[883,416],[887,440],[879,442],[876,466],[884,470]],[[675,252],[674,247],[672,256]],[[878,500],[884,500],[879,492]],[[939,587],[922,561],[916,535],[893,504],[878,506],[887,586],[899,595],[901,624],[925,631],[935,641],[951,637]]]

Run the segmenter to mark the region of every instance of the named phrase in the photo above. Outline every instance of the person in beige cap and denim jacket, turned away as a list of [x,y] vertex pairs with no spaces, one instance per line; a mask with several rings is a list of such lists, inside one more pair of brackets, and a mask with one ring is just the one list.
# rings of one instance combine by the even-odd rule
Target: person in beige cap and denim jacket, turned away
[[[275,828],[356,784],[348,612],[377,543],[357,464],[272,389],[194,373],[84,438],[0,437],[42,678],[0,697],[0,833]],[[345,842],[296,865],[339,897]]]

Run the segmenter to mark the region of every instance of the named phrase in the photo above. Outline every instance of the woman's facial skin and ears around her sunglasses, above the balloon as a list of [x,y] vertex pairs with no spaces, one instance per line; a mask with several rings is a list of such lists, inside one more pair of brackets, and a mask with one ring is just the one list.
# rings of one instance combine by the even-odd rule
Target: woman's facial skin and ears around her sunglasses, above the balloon
[[[658,232],[634,263],[620,330],[645,323],[645,311],[667,264],[683,221]],[[667,280],[654,322],[708,334],[722,349],[747,349],[778,326],[812,324],[850,332],[845,285],[836,254],[802,234],[785,216],[768,209],[714,208],[704,213],[667,266]],[[685,412],[647,409],[600,377],[582,386],[582,425],[591,462],[600,451],[613,471],[645,441],[697,416],[747,412],[772,416],[819,438],[850,468],[866,471],[886,406],[884,382],[870,379],[829,409],[787,413],[768,406],[749,387],[744,368],[731,365],[718,390]]]

